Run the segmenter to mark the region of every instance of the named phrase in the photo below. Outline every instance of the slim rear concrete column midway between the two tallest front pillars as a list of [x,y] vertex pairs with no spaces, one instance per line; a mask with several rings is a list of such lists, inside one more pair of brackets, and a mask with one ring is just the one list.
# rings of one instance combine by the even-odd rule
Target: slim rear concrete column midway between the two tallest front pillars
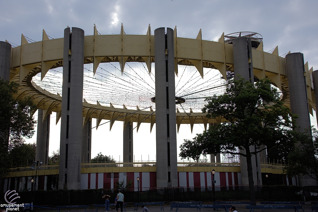
[[[125,127],[125,126],[124,126]],[[123,135],[123,162],[134,162],[133,123],[128,122]],[[124,164],[126,166],[126,164]],[[131,165],[127,165],[131,166]]]

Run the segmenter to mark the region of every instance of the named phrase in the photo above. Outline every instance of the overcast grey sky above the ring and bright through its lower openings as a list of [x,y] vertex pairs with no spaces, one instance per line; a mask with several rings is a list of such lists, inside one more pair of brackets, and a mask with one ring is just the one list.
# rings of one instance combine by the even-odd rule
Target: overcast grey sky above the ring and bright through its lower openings
[[[263,36],[264,51],[278,45],[279,55],[288,51],[304,53],[309,68],[318,69],[318,1],[1,1],[0,40],[21,44],[21,33],[32,40],[42,40],[42,29],[52,38],[63,37],[67,26],[79,27],[85,35],[93,34],[93,24],[102,34],[119,33],[123,23],[126,33],[147,32],[158,27],[177,26],[178,36],[195,38],[200,28],[202,38],[218,40],[223,32],[258,32]],[[37,113],[35,114],[37,115]],[[50,152],[59,148],[59,127],[52,115]],[[315,116],[315,114],[314,114]],[[53,118],[54,117],[54,118]],[[316,118],[312,117],[316,125]],[[93,122],[96,120],[93,119]],[[135,124],[136,125],[136,124]],[[134,127],[135,127],[134,125]],[[95,126],[95,123],[93,123]],[[92,133],[92,155],[98,152],[122,160],[122,123],[115,122],[109,132],[104,124]],[[134,131],[135,160],[155,160],[156,131],[149,124]],[[202,126],[182,125],[177,146],[184,138],[201,133]],[[28,142],[35,141],[36,136]]]

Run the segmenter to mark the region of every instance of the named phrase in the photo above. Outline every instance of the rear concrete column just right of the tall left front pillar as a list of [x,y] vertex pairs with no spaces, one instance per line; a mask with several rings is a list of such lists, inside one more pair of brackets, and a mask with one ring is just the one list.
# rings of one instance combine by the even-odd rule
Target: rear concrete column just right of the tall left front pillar
[[81,162],[91,162],[92,149],[92,119],[86,122],[82,129],[82,154]]

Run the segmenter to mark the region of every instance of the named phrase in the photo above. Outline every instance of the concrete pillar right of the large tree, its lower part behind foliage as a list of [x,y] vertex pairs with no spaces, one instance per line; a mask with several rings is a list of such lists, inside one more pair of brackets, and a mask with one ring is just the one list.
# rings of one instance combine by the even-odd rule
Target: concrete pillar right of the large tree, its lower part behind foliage
[[[310,128],[310,115],[307,96],[306,78],[304,76],[304,56],[302,53],[286,55],[286,71],[288,78],[290,111],[299,116],[296,119],[297,127],[301,133]],[[317,83],[316,73],[313,73],[313,81]],[[315,85],[315,84],[314,84]],[[308,175],[298,177],[299,185],[317,185],[316,181]]]

